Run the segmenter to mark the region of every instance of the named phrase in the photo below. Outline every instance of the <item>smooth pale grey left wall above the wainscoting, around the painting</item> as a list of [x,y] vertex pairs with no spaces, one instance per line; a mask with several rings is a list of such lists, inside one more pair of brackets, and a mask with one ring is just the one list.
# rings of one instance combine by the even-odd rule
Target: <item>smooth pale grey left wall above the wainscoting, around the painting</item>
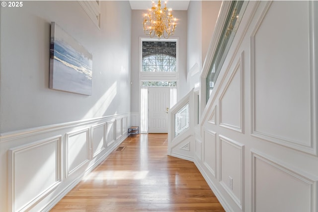
[[[1,133],[130,110],[130,20],[118,15],[130,14],[126,3],[102,2],[100,30],[76,1],[1,7]],[[92,53],[92,96],[48,88],[51,21]],[[103,95],[113,88],[116,95],[107,100]],[[104,101],[107,107],[98,105]]]

